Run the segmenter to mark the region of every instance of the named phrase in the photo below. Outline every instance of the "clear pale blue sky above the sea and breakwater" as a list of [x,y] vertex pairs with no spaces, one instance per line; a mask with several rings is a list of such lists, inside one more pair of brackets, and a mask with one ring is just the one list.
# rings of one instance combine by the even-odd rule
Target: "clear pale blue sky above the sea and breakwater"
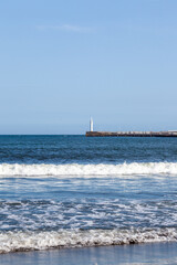
[[177,129],[176,0],[0,1],[0,134]]

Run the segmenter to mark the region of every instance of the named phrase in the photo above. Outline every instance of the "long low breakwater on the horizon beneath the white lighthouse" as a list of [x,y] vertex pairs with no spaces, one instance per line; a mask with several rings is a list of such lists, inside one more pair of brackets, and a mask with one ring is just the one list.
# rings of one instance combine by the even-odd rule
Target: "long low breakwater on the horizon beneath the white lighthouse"
[[177,137],[177,131],[86,131],[86,137]]

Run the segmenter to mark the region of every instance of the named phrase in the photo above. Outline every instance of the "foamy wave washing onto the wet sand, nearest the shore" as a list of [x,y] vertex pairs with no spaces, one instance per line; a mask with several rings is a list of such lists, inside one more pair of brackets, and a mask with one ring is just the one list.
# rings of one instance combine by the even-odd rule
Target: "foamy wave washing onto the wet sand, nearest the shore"
[[0,233],[0,254],[62,247],[138,244],[177,241],[176,229],[88,230]]

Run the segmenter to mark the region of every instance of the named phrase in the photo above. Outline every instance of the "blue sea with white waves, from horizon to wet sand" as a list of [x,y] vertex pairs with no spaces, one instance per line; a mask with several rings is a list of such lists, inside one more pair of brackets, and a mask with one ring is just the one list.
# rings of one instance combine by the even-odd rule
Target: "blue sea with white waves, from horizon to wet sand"
[[177,138],[0,136],[0,253],[177,242]]

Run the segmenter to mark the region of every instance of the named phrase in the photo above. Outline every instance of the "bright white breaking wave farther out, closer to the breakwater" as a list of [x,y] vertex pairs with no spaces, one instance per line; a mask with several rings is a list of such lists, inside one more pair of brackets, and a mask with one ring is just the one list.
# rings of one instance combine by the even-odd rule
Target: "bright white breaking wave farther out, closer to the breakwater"
[[129,176],[177,174],[177,162],[133,162],[121,165],[20,165],[1,163],[0,176]]

